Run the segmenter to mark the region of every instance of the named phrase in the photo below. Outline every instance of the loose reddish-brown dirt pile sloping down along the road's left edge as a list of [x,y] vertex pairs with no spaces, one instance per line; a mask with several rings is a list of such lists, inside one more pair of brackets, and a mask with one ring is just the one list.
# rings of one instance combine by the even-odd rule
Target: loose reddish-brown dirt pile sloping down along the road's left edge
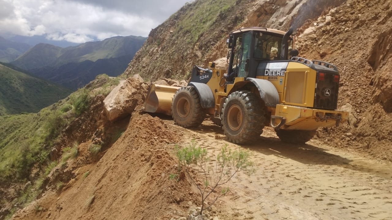
[[127,130],[97,162],[85,163],[91,157],[91,141],[81,144],[80,156],[68,165],[83,165],[69,173],[74,178],[60,191],[47,191],[14,219],[167,219],[185,215],[178,204],[189,202],[185,199],[191,190],[189,183],[169,180],[171,173],[177,173],[172,143],[180,137],[181,132],[161,119],[135,113]]

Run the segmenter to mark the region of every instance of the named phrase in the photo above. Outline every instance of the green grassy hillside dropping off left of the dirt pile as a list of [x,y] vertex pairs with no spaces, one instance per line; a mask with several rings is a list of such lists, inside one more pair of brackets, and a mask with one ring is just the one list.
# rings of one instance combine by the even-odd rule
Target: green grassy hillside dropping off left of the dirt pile
[[[63,132],[63,135],[68,136],[69,133],[64,134],[64,129],[72,127],[72,124],[80,124],[75,119],[81,115],[84,114],[86,118],[94,117],[85,112],[94,105],[94,100],[100,103],[102,97],[119,81],[118,78],[100,75],[88,88],[80,89],[38,113],[0,116],[0,197],[4,198],[0,200],[0,206],[7,207],[0,211],[0,219],[11,209],[15,211],[14,204],[31,202],[42,192],[41,187],[47,184],[44,179],[57,165],[52,160],[62,154],[64,145],[71,150],[78,141],[85,141],[83,135],[89,135],[91,131],[89,133],[82,129],[83,134],[78,138],[74,137],[71,142],[60,140],[60,134]],[[84,128],[95,126],[93,123],[80,125]],[[69,129],[68,132],[72,133],[73,128]],[[23,185],[28,181],[33,186],[25,193]],[[9,191],[9,187],[14,190]]]

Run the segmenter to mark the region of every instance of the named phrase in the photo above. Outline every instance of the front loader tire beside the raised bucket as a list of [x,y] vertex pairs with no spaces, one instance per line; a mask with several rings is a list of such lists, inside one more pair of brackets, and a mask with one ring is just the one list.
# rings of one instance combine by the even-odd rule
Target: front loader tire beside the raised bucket
[[184,128],[197,127],[205,118],[199,94],[191,86],[177,90],[173,97],[171,111],[174,122]]

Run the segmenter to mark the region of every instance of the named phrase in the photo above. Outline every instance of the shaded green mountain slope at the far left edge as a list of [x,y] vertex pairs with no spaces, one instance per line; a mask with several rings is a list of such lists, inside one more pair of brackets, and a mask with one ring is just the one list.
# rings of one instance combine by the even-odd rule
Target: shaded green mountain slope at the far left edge
[[0,115],[38,112],[71,93],[67,88],[13,68],[0,63]]

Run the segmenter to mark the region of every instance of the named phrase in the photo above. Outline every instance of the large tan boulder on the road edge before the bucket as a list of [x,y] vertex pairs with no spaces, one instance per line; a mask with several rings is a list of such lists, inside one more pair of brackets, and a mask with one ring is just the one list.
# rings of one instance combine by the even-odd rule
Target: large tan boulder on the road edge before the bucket
[[136,106],[143,103],[147,86],[139,77],[130,77],[120,84],[103,100],[107,118],[116,121],[134,112]]

